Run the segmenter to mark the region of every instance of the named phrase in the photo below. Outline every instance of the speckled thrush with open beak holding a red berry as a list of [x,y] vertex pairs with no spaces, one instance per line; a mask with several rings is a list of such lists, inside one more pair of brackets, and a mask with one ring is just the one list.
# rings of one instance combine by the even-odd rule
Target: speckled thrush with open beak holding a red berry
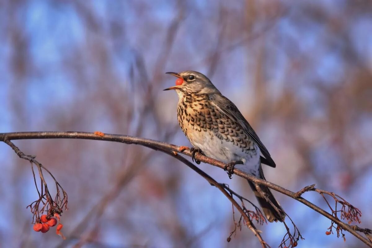
[[[167,72],[177,77],[176,85],[164,90],[175,90],[178,95],[177,119],[195,152],[224,162],[230,174],[238,168],[245,173],[265,179],[262,164],[276,167],[266,147],[234,103],[212,84],[208,77],[197,71]],[[241,161],[242,164],[232,164]],[[199,161],[200,163],[200,161]],[[231,167],[232,165],[232,167]],[[269,222],[283,222],[285,212],[266,186],[248,180]],[[261,193],[259,192],[261,191]],[[263,194],[275,205],[270,204]]]

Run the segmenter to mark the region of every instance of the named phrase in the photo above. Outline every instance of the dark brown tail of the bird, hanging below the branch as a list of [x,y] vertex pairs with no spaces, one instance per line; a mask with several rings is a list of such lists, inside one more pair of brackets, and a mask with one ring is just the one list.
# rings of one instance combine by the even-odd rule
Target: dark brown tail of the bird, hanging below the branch
[[[260,178],[266,180],[263,175],[261,166],[260,166]],[[264,215],[266,216],[266,219],[269,220],[269,222],[273,222],[273,221],[277,222],[278,220],[280,222],[283,222],[285,218],[284,211],[282,207],[280,206],[280,204],[278,203],[278,201],[273,196],[273,194],[271,193],[270,189],[268,187],[260,185],[260,188],[262,189],[263,193],[265,193],[267,197],[269,198],[269,200],[278,208],[280,214],[274,209],[273,206],[271,206],[269,202],[266,201],[266,199],[264,199],[261,196],[261,194],[257,191],[256,186],[254,186],[254,184],[251,181],[248,180],[248,183],[251,186],[253,193],[256,196]]]

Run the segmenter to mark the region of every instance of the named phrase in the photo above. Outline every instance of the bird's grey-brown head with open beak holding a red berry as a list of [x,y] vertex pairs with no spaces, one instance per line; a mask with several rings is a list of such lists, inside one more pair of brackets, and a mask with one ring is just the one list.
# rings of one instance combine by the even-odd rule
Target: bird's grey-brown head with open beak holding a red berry
[[183,71],[181,73],[169,72],[166,74],[177,77],[177,80],[175,86],[166,88],[165,90],[176,90],[180,98],[188,94],[219,93],[211,80],[197,71]]

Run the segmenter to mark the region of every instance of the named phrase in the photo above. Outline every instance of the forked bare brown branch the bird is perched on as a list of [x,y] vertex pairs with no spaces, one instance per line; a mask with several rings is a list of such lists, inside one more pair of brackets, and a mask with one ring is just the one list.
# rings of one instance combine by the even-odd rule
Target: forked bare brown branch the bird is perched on
[[[259,233],[257,232],[257,229],[254,227],[250,218],[246,215],[246,213],[240,207],[240,205],[232,198],[230,192],[226,191],[224,189],[224,187],[222,187],[220,184],[218,184],[215,180],[213,180],[213,178],[209,177],[209,175],[205,174],[202,170],[200,170],[198,167],[193,165],[191,162],[187,161],[183,157],[177,156],[177,152],[180,152],[180,147],[179,146],[164,143],[164,142],[160,142],[160,141],[154,141],[154,140],[151,140],[151,139],[132,137],[132,136],[128,136],[128,135],[113,135],[113,134],[103,134],[103,133],[102,133],[102,135],[97,135],[95,133],[87,133],[87,132],[0,133],[0,141],[3,141],[6,144],[10,145],[15,150],[17,155],[19,155],[20,158],[24,158],[24,159],[29,160],[29,161],[34,162],[34,163],[35,163],[34,158],[32,158],[30,156],[27,156],[27,155],[25,155],[26,157],[23,156],[24,154],[22,152],[20,152],[19,149],[17,150],[17,147],[12,142],[10,142],[10,140],[16,140],[16,139],[55,139],[55,138],[94,139],[94,140],[121,142],[121,143],[125,143],[125,144],[137,144],[137,145],[146,146],[146,147],[149,147],[151,149],[159,150],[159,151],[165,152],[169,155],[172,155],[173,157],[179,159],[180,161],[184,162],[187,166],[189,166],[190,168],[195,170],[198,174],[202,175],[202,177],[204,177],[206,180],[208,180],[209,183],[213,184],[218,189],[220,189],[222,191],[222,193],[224,193],[225,196],[228,197],[229,200],[231,200],[232,204],[234,204],[234,206],[242,214],[248,228],[250,228],[251,231],[253,233],[255,233],[257,238],[259,238],[262,246],[266,247],[266,243],[262,240],[262,238],[260,238]],[[13,144],[13,146],[12,146],[12,144]],[[189,150],[184,150],[181,153],[185,154],[187,156],[191,156],[191,153],[190,153]],[[222,163],[220,161],[217,161],[217,160],[214,160],[212,158],[203,156],[199,153],[197,153],[195,155],[195,158],[198,159],[199,161],[202,161],[202,162],[205,162],[205,163],[208,163],[208,164],[220,167],[220,168],[225,167],[224,163]],[[369,247],[372,247],[372,242],[371,242],[371,238],[370,238],[371,237],[370,234],[372,233],[371,229],[366,229],[366,228],[363,229],[363,228],[360,228],[359,226],[356,226],[356,225],[355,226],[350,226],[349,225],[351,223],[350,221],[349,221],[349,223],[345,223],[337,217],[337,212],[341,212],[341,219],[355,220],[357,222],[360,222],[359,217],[358,217],[358,216],[360,216],[359,209],[356,209],[355,207],[353,207],[350,203],[346,202],[340,196],[338,196],[338,195],[336,195],[332,192],[315,189],[315,187],[313,187],[313,185],[307,186],[304,189],[299,190],[298,192],[295,193],[295,192],[287,190],[283,187],[280,187],[276,184],[270,183],[269,181],[262,180],[260,178],[254,177],[252,175],[243,173],[242,171],[240,171],[236,168],[234,168],[234,174],[236,174],[240,177],[246,178],[246,179],[252,181],[255,184],[267,186],[270,189],[276,190],[276,191],[278,191],[282,194],[285,194],[286,196],[289,196],[291,198],[294,198],[295,200],[298,200],[299,202],[305,204],[306,206],[310,207],[311,209],[315,210],[316,212],[318,212],[321,215],[325,216],[326,218],[330,219],[332,221],[332,225],[333,225],[333,223],[336,223],[337,233],[338,233],[339,230],[341,230],[341,233],[342,233],[342,230],[345,230],[345,231],[351,233],[352,235],[356,236],[358,239],[360,239],[362,242],[364,242]],[[323,197],[324,197],[324,194],[332,196],[334,198],[335,202],[336,202],[336,209],[333,210],[330,207],[330,205],[328,204],[328,206],[330,207],[330,209],[332,211],[332,214],[330,214],[330,213],[326,212],[325,210],[321,209],[320,207],[316,206],[315,204],[305,200],[304,198],[301,197],[301,194],[305,193],[306,191],[316,191],[316,192],[320,193]],[[324,199],[325,199],[325,197],[324,197]],[[326,200],[326,202],[327,202],[327,200]],[[342,209],[341,210],[337,210],[337,203],[342,204]],[[346,207],[349,208],[348,211],[346,211],[346,209],[345,209]],[[360,235],[359,232],[364,233],[367,236],[367,238]]]

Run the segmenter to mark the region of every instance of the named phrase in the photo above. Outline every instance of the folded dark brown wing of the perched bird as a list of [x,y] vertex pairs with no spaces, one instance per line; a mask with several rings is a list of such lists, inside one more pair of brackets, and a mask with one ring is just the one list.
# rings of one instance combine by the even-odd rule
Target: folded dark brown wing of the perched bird
[[251,125],[249,125],[249,123],[240,113],[235,104],[221,94],[210,94],[209,100],[211,100],[211,103],[214,105],[216,111],[223,113],[230,119],[237,122],[240,128],[246,131],[246,133],[253,139],[253,141],[256,142],[261,150],[261,154],[264,156],[261,157],[261,162],[275,168],[276,164],[271,158],[269,151],[267,151],[266,147],[262,144],[260,138],[257,136],[257,133],[254,132]]

